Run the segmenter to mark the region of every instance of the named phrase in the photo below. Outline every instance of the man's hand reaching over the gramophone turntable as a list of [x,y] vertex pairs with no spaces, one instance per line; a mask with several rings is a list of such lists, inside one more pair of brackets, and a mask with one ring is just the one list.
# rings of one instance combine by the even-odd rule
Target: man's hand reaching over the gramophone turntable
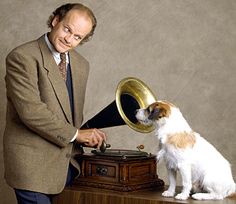
[[96,128],[78,130],[76,137],[78,143],[84,143],[88,147],[100,148],[103,141],[106,141],[106,134]]

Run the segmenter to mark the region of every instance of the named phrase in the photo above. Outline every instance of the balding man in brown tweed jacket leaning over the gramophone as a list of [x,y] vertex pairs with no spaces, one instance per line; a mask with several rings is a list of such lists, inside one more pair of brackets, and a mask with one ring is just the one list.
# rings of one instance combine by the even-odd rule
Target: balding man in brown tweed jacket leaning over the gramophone
[[106,140],[98,129],[79,129],[89,64],[73,49],[91,38],[96,18],[82,4],[65,4],[48,24],[51,32],[6,59],[5,179],[20,204],[49,204],[78,175],[72,155],[80,146]]

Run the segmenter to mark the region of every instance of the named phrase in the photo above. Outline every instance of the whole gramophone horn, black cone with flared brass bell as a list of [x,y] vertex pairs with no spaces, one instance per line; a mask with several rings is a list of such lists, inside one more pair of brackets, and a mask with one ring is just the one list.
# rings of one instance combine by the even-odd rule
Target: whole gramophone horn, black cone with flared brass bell
[[127,124],[138,132],[151,132],[155,127],[140,124],[135,117],[135,112],[139,108],[146,108],[156,100],[152,91],[141,80],[133,77],[124,78],[117,86],[115,100],[83,124],[81,129]]

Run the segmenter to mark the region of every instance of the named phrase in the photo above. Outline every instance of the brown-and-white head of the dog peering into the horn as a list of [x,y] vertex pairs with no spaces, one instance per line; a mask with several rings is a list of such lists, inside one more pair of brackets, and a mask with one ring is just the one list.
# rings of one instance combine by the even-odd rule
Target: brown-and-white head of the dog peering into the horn
[[135,116],[140,123],[151,125],[155,121],[168,118],[172,107],[175,106],[167,101],[156,101],[147,108],[138,109]]

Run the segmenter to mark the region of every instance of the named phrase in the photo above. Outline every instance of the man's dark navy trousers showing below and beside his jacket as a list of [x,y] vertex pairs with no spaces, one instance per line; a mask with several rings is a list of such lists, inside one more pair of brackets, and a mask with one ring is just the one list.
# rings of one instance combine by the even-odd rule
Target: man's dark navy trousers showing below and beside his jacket
[[[78,174],[78,170],[70,164],[68,168],[65,186],[70,186],[77,174]],[[18,204],[51,204],[52,203],[53,195],[44,194],[40,192],[34,192],[34,191],[28,191],[28,190],[23,190],[23,189],[14,189],[14,190],[15,190],[15,195],[16,195]]]

